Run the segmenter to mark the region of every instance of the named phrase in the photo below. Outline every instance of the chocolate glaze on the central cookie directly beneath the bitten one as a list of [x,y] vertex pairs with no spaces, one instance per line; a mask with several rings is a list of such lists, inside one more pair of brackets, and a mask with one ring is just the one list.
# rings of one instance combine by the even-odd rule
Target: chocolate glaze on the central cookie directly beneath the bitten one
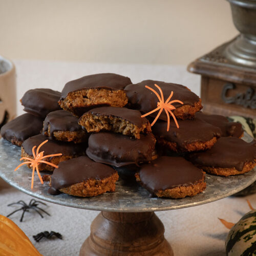
[[90,135],[86,153],[96,162],[116,167],[139,164],[152,160],[155,142],[152,133],[134,139],[121,134],[100,132]]

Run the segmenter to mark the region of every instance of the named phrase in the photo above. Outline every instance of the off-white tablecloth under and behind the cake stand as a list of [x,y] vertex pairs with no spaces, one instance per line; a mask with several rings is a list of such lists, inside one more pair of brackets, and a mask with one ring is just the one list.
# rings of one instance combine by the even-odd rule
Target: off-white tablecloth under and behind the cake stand
[[[32,88],[61,90],[65,82],[87,74],[114,72],[131,77],[133,82],[143,79],[181,83],[195,93],[200,91],[200,77],[189,74],[182,66],[110,65],[53,61],[14,61],[17,68],[17,99]],[[18,107],[22,114],[22,106]],[[1,188],[2,186],[2,188]],[[0,182],[0,214],[8,215],[15,207],[7,204],[32,197],[14,188],[4,188]],[[176,256],[224,256],[224,242],[228,233],[219,218],[237,222],[249,207],[249,199],[256,207],[256,194],[246,198],[229,197],[201,206],[157,212],[165,226],[165,238],[172,245]],[[90,234],[90,224],[97,211],[69,208],[47,203],[45,209],[51,216],[41,219],[34,212],[27,212],[24,222],[19,222],[20,212],[10,218],[27,234],[39,252],[47,255],[78,255],[80,246]],[[63,240],[42,240],[36,243],[32,236],[41,231],[56,231]]]

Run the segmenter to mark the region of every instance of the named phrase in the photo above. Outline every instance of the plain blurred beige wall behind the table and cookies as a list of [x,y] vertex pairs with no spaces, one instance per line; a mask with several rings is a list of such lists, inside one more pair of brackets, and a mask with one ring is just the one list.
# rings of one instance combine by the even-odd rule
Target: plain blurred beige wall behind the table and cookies
[[237,34],[225,0],[0,0],[11,59],[187,65]]

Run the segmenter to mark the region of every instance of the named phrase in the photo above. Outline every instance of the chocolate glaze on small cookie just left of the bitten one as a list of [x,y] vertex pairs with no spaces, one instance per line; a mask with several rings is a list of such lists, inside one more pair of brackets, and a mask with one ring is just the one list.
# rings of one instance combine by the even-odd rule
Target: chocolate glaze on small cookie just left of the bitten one
[[82,131],[82,127],[78,124],[78,118],[65,110],[58,110],[49,113],[44,121],[43,132],[48,131],[48,125],[50,125],[50,139],[53,139],[53,133],[57,131]]

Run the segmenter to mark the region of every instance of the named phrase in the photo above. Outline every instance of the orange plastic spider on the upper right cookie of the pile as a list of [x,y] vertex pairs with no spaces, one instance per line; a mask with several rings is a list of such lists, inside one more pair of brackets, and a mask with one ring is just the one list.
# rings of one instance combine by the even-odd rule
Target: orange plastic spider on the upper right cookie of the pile
[[148,116],[148,115],[150,115],[150,114],[152,114],[152,113],[154,113],[154,112],[159,110],[155,120],[151,124],[151,126],[153,126],[155,124],[155,122],[157,121],[158,117],[161,115],[162,111],[164,110],[166,115],[167,115],[167,132],[169,131],[169,127],[170,127],[170,117],[169,117],[169,114],[172,115],[172,117],[173,117],[173,119],[174,119],[174,121],[176,123],[177,128],[179,128],[179,124],[178,124],[178,122],[176,120],[176,117],[173,114],[173,112],[171,111],[171,110],[175,110],[176,109],[175,106],[172,105],[172,103],[174,103],[174,102],[179,102],[181,104],[184,104],[184,103],[182,101],[180,101],[180,100],[177,100],[177,99],[169,101],[170,98],[173,97],[173,94],[174,94],[173,91],[170,93],[170,95],[166,99],[166,101],[164,101],[163,92],[162,92],[161,88],[156,83],[155,83],[155,87],[160,91],[161,97],[160,97],[160,95],[154,89],[152,89],[151,87],[145,86],[145,88],[151,90],[158,97],[159,102],[157,102],[157,108],[152,110],[151,112],[148,112],[148,113],[142,115],[141,117]]

